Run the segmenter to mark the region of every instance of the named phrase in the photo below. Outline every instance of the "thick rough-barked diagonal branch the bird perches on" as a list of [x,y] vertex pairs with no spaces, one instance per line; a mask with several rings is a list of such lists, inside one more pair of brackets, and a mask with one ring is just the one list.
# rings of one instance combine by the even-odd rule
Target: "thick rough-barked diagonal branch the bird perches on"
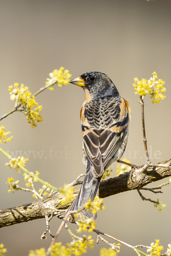
[[[171,159],[163,161],[160,164],[170,163]],[[169,176],[171,176],[171,168],[149,167],[144,173],[142,173],[140,167],[135,167],[132,177],[133,181],[130,179],[130,172],[102,181],[99,187],[99,196],[101,198],[105,198],[121,192],[140,189],[149,183],[162,180]],[[75,190],[72,201],[75,199],[78,192],[79,189]],[[57,195],[55,197],[41,199],[30,204],[24,204],[19,207],[0,210],[0,227],[11,226],[38,218],[45,218],[46,215],[50,216],[55,212],[58,212],[58,210],[67,209],[71,203],[72,202],[61,205],[61,197]]]

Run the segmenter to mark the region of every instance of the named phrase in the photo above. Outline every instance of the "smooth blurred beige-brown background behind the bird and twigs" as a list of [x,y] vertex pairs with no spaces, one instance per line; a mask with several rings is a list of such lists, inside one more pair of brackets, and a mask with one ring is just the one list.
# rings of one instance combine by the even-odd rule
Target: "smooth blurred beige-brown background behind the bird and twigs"
[[[153,163],[171,158],[170,28],[170,0],[1,0],[0,116],[14,107],[8,86],[15,82],[23,83],[35,93],[45,85],[49,73],[61,66],[70,70],[72,79],[87,71],[107,73],[132,110],[128,145],[123,157],[141,165],[145,163],[141,107],[132,84],[134,77],[150,79],[156,71],[159,78],[165,80],[167,91],[166,99],[159,105],[145,97],[148,149]],[[11,142],[1,144],[1,147],[14,156],[28,156],[27,169],[38,170],[40,177],[54,186],[72,182],[85,171],[79,119],[84,98],[84,91],[73,84],[40,93],[36,101],[43,105],[43,122],[32,129],[26,116],[13,113],[0,123],[14,136]],[[73,124],[74,129],[70,129]],[[7,192],[7,177],[19,179],[21,186],[25,182],[22,171],[16,173],[5,166],[6,162],[7,158],[0,154],[0,209],[34,201],[29,192]],[[116,163],[111,167],[113,177]],[[148,187],[167,181],[168,178]],[[131,245],[150,245],[154,239],[160,239],[166,251],[171,242],[171,187],[163,187],[162,191],[163,194],[143,192],[145,197],[159,198],[167,205],[161,212],[151,202],[142,201],[137,191],[105,198],[106,209],[99,212],[97,228]],[[57,218],[50,222],[53,234],[60,223]],[[5,255],[27,256],[31,249],[47,248],[51,238],[47,235],[46,241],[41,240],[44,230],[44,219],[0,229],[0,243],[8,250]],[[92,235],[96,240],[96,235]],[[58,241],[70,242],[66,230],[62,231]],[[87,255],[98,256],[101,247],[108,246],[100,241],[94,250],[88,250]],[[136,254],[122,245],[119,255]]]

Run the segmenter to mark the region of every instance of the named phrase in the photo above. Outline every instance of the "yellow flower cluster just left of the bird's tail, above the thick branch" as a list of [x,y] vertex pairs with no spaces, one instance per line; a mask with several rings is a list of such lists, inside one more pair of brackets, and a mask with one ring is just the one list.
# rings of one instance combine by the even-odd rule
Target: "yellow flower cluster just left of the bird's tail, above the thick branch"
[[72,201],[74,190],[75,190],[74,187],[70,186],[69,184],[59,189],[60,191],[59,196],[62,197],[61,204],[64,205],[67,203],[67,201],[68,202]]

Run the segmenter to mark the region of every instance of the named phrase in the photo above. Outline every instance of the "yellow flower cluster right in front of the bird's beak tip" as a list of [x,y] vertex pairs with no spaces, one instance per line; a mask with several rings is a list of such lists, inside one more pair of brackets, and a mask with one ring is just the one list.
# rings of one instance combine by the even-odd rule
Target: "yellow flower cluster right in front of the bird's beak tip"
[[[69,70],[64,70],[64,67],[60,67],[59,70],[53,70],[52,73],[49,73],[50,78],[47,78],[46,85],[57,84],[58,87],[62,85],[67,85],[70,81],[71,74]],[[55,86],[49,87],[49,90],[54,90]]]

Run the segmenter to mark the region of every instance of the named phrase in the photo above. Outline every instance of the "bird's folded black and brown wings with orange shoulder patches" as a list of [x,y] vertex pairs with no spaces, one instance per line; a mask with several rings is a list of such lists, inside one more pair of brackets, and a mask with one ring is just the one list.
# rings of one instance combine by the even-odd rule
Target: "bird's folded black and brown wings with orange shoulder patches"
[[108,163],[122,157],[125,150],[122,143],[127,142],[129,119],[130,107],[123,98],[120,103],[119,118],[116,119],[109,113],[108,118],[105,117],[103,120],[107,124],[103,129],[101,126],[99,130],[90,127],[87,119],[82,115],[84,149],[94,167],[95,177],[101,177]]

